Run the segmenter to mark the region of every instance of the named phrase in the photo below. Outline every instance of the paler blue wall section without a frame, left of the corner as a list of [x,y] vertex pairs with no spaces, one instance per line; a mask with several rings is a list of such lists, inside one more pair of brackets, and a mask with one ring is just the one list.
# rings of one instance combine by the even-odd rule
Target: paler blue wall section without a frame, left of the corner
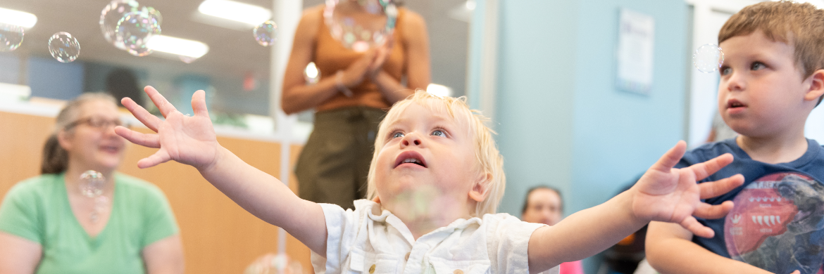
[[494,121],[508,183],[499,211],[520,216],[532,185],[569,190],[578,3],[499,3]]

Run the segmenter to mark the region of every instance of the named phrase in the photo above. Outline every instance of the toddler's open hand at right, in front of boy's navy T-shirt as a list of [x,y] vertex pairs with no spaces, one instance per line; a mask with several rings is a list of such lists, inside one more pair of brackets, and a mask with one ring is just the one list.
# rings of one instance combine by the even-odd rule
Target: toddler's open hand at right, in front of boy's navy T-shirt
[[727,201],[711,206],[700,199],[716,197],[744,183],[744,176],[736,174],[726,179],[708,183],[696,183],[733,162],[733,156],[724,154],[712,160],[683,169],[672,168],[686,151],[686,142],[678,142],[647,170],[632,187],[634,215],[642,220],[667,221],[681,224],[693,235],[713,237],[714,231],[701,225],[694,216],[717,219],[733,209]]

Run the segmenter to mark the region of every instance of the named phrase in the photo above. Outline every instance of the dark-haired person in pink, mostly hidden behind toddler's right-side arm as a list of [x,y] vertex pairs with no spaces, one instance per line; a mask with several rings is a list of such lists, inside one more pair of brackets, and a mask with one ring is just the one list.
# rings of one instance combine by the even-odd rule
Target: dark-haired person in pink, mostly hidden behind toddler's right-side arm
[[[521,211],[521,221],[555,225],[564,218],[564,200],[558,189],[547,186],[531,188]],[[560,274],[583,274],[581,261],[563,262]]]

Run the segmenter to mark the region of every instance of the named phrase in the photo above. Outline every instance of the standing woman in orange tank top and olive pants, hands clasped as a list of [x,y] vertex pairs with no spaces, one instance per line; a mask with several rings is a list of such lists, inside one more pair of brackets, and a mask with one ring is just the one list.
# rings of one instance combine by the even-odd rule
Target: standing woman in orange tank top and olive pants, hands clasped
[[[377,20],[356,0],[339,0],[339,5],[352,18]],[[385,109],[429,84],[428,38],[423,18],[400,7],[391,37],[358,53],[331,36],[324,9],[307,9],[297,26],[282,107],[287,114],[316,111],[314,131],[295,169],[299,196],[353,208],[354,200],[366,197],[377,124]],[[321,80],[308,85],[303,71],[311,62]]]

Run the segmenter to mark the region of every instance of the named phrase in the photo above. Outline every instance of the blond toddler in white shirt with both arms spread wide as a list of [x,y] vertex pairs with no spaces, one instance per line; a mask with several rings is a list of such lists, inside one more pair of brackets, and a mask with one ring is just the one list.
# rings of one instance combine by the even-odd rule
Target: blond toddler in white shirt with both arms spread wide
[[416,92],[396,103],[380,125],[369,199],[344,211],[300,199],[220,146],[204,91],[194,93],[194,116],[187,117],[151,86],[145,90],[166,120],[128,98],[123,104],[158,134],[115,128],[131,142],[160,148],[138,167],[167,160],[194,166],[246,211],[306,244],[317,273],[546,272],[598,253],[653,220],[712,237],[713,230],[693,215],[719,218],[732,202],[709,206],[700,198],[742,183],[740,175],[695,183],[732,162],[729,155],[672,169],[686,151],[685,142],[678,142],[633,188],[602,205],[554,226],[522,222],[494,214],[503,196],[503,159],[480,114],[463,100]]

